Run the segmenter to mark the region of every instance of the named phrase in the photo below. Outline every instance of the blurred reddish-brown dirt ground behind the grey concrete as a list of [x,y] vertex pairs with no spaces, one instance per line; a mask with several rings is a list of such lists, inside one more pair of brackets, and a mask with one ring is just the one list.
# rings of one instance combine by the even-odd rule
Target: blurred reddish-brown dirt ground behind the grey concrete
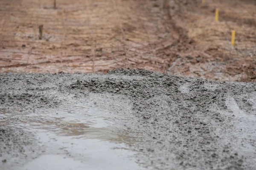
[[256,0],[205,1],[1,0],[0,72],[130,67],[256,82]]

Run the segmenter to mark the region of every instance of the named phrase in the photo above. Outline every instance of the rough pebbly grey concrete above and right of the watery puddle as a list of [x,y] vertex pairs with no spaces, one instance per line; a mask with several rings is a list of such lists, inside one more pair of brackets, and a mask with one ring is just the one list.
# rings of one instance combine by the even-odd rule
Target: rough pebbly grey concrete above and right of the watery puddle
[[131,110],[121,113],[133,119],[119,122],[119,130],[137,136],[127,144],[148,169],[255,168],[255,83],[118,69],[105,75],[6,73],[0,84],[1,110],[54,109],[90,94],[125,96]]

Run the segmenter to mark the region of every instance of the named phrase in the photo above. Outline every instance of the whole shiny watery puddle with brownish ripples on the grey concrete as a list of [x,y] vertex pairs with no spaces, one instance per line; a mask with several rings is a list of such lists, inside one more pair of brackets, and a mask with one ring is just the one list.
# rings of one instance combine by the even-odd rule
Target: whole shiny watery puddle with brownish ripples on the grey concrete
[[22,166],[12,164],[4,170],[143,170],[134,158],[136,152],[127,147],[137,139],[119,126],[132,119],[129,102],[92,97],[52,111],[1,111],[2,125],[35,134],[44,148],[37,157],[21,161]]

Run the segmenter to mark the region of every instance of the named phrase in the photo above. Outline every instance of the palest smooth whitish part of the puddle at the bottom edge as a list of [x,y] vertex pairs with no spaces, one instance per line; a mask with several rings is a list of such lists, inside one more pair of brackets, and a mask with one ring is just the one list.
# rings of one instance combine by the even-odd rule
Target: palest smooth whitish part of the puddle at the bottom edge
[[[42,135],[42,134],[41,134]],[[44,134],[45,135],[45,134]],[[125,144],[99,139],[44,137],[51,146],[21,170],[140,170]],[[58,151],[56,151],[58,149]]]

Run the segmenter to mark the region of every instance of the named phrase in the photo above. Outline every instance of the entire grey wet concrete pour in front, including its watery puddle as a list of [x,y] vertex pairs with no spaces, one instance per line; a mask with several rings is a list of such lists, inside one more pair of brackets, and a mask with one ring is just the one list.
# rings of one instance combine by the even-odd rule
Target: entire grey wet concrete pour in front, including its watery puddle
[[4,170],[256,167],[255,83],[119,69],[0,85]]

